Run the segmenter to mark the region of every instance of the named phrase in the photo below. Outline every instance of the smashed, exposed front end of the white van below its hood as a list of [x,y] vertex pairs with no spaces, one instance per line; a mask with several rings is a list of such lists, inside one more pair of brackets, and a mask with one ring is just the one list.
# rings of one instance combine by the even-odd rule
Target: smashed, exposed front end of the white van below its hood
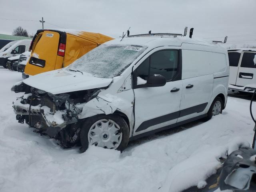
[[14,92],[25,92],[13,102],[16,119],[26,122],[36,132],[60,140],[64,148],[73,146],[79,141],[83,120],[79,118],[84,105],[98,94],[98,89],[50,94],[18,82]]

